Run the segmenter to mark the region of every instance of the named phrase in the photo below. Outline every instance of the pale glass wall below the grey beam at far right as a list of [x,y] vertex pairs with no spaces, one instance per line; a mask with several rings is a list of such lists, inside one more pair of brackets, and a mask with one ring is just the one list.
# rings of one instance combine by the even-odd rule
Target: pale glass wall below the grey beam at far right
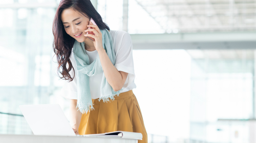
[[249,142],[254,119],[254,50],[188,50],[190,139]]

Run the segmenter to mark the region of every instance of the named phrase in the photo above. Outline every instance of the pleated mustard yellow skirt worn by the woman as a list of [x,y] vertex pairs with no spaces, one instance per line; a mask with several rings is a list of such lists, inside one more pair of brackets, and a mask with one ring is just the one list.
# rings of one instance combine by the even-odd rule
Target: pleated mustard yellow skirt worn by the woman
[[114,100],[92,99],[94,110],[83,114],[78,128],[80,135],[99,134],[111,131],[140,132],[142,140],[148,143],[148,134],[144,126],[139,103],[132,90],[115,95]]

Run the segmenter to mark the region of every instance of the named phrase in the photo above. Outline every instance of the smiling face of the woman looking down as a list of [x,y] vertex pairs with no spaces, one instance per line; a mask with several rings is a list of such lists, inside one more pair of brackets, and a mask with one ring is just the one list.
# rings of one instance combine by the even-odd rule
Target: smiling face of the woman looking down
[[86,34],[84,30],[88,28],[86,25],[89,25],[89,20],[89,18],[85,17],[80,12],[74,11],[72,8],[65,9],[61,13],[61,21],[64,25],[65,31],[80,43],[84,42],[85,39],[88,38],[84,36],[84,34]]

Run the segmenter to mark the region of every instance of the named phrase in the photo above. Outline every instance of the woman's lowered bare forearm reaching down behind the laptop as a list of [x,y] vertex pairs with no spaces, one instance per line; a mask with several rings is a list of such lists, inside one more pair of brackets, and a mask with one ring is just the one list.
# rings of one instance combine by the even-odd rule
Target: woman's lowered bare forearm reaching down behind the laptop
[[[70,99],[70,125],[73,129],[76,130],[76,134],[78,133],[78,127],[81,122],[82,113],[76,108],[77,100],[76,99]],[[78,110],[78,111],[77,111]]]

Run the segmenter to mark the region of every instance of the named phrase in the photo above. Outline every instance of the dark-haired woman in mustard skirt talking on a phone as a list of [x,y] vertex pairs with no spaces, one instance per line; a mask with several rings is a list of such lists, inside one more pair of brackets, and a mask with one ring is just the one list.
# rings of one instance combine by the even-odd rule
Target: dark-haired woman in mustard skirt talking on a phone
[[[132,92],[136,85],[131,36],[110,30],[90,0],[60,1],[52,31],[60,78],[69,81],[62,96],[70,99],[74,132],[140,132],[143,138],[138,142],[147,143],[140,107]],[[88,31],[95,35],[86,34]]]

